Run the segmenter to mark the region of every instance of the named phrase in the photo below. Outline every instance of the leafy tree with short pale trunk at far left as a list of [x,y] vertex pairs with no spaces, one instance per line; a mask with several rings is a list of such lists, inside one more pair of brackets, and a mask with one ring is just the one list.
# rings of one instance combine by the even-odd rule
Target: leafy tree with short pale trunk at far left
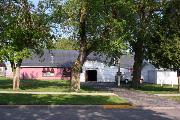
[[[0,54],[9,60],[13,69],[13,89],[19,89],[20,66],[23,59],[32,53],[51,47],[53,40],[50,33],[50,19],[43,3],[35,9],[27,0],[4,1],[7,5],[3,22],[8,26],[2,32],[3,49]],[[6,14],[7,13],[7,14]]]

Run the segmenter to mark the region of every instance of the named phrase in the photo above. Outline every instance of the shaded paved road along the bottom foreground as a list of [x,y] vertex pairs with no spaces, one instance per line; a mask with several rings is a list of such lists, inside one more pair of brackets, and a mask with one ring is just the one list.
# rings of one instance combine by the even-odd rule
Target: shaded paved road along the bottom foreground
[[2,107],[0,120],[180,120],[180,109],[104,109],[76,107]]

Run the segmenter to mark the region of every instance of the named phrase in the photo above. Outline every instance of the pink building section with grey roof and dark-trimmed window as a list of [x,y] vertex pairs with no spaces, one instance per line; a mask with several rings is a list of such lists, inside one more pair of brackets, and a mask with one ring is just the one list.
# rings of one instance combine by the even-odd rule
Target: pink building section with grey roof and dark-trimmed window
[[34,55],[21,64],[21,79],[69,80],[71,66],[78,56],[74,50],[45,50],[42,56]]

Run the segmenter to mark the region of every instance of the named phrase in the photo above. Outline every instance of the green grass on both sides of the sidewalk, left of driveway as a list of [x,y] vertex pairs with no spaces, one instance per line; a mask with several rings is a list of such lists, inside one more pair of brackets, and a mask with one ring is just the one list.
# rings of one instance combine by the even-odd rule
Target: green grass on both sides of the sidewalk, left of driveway
[[[0,78],[0,91],[13,91],[12,79]],[[21,80],[18,91],[32,92],[70,92],[67,80]],[[80,92],[97,92],[90,87],[81,87]],[[1,105],[120,105],[129,104],[118,96],[90,95],[37,95],[0,94]]]

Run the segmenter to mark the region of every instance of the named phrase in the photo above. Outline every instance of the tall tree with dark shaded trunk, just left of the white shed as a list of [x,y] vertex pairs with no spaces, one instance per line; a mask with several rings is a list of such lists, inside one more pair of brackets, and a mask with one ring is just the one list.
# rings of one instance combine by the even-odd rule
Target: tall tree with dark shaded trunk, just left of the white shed
[[161,2],[149,0],[118,0],[114,6],[121,18],[126,22],[124,31],[128,34],[127,41],[134,53],[133,87],[139,87],[142,62],[145,56],[145,44],[150,41],[152,27],[156,16],[160,15]]

